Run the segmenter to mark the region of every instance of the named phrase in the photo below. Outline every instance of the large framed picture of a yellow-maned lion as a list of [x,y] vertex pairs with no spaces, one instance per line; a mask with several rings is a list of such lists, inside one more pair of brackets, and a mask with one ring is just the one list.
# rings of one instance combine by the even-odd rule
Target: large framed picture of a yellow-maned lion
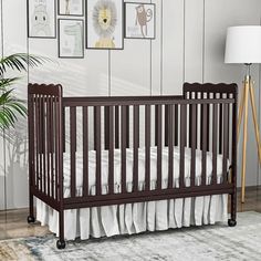
[[86,48],[123,49],[123,0],[86,1]]

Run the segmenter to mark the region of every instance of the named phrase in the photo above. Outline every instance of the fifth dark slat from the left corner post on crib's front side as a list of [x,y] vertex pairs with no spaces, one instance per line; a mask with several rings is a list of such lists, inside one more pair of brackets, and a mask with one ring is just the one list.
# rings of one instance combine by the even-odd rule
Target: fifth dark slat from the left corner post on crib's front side
[[122,163],[122,192],[126,192],[126,146],[127,146],[127,108],[122,106],[121,117],[121,163]]

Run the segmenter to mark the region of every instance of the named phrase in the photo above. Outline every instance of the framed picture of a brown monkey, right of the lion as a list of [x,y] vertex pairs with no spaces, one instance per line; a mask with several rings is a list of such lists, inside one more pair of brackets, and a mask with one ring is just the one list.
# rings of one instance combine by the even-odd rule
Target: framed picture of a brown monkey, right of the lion
[[125,3],[125,38],[155,39],[155,4]]

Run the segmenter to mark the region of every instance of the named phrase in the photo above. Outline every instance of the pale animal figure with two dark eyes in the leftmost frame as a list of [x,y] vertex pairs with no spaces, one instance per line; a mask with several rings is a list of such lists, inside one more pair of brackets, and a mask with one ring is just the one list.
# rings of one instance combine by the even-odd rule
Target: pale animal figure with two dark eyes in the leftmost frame
[[51,36],[50,15],[46,4],[39,3],[34,6],[31,17],[31,35]]

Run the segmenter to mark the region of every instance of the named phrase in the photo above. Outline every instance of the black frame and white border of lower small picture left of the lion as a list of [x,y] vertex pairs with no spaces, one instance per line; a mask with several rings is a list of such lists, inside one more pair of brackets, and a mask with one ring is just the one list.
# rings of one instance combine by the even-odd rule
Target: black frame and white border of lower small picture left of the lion
[[[82,23],[82,55],[61,55],[61,22],[81,22]],[[58,56],[61,59],[83,59],[84,58],[84,19],[58,19]]]

